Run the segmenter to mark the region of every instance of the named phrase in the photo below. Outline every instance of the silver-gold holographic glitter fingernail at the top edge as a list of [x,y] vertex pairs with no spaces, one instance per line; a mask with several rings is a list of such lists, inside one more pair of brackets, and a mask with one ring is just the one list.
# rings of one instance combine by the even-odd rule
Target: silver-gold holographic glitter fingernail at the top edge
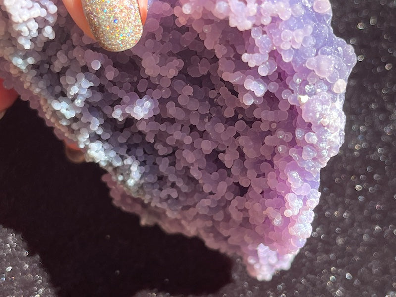
[[104,49],[130,49],[141,38],[143,24],[137,0],[81,1],[91,32]]

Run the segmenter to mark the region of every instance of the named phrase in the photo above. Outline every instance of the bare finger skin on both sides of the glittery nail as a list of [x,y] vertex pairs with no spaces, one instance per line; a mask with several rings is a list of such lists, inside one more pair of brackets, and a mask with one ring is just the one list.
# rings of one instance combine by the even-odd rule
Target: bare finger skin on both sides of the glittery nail
[[[144,24],[147,17],[147,0],[137,0],[137,1],[139,4],[142,24]],[[92,39],[95,39],[94,35],[90,30],[88,21],[85,18],[81,0],[63,0],[63,4],[65,5],[67,11],[69,12],[72,19],[75,21],[77,26],[79,26],[86,35],[88,35]]]

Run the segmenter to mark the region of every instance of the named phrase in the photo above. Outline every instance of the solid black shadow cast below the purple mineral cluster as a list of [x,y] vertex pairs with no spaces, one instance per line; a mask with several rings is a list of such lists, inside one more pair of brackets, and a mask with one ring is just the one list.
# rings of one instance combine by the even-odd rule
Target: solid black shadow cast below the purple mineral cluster
[[141,227],[114,207],[104,173],[72,164],[37,112],[18,101],[0,121],[0,224],[39,254],[60,297],[130,297],[156,288],[213,293],[231,280],[231,261],[197,238]]

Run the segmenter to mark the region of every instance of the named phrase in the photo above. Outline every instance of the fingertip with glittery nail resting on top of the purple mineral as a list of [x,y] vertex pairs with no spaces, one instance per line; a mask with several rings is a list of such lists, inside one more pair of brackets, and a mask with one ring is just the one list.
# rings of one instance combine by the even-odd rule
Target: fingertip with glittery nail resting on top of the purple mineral
[[104,49],[130,49],[142,36],[147,0],[63,0],[63,3],[84,33]]

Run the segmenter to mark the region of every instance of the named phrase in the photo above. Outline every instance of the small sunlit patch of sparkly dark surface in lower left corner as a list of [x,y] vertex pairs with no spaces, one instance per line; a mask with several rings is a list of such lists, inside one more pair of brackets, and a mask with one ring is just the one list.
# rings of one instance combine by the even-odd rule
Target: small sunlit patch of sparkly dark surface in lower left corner
[[20,235],[0,225],[1,296],[55,297],[38,255],[31,256]]

